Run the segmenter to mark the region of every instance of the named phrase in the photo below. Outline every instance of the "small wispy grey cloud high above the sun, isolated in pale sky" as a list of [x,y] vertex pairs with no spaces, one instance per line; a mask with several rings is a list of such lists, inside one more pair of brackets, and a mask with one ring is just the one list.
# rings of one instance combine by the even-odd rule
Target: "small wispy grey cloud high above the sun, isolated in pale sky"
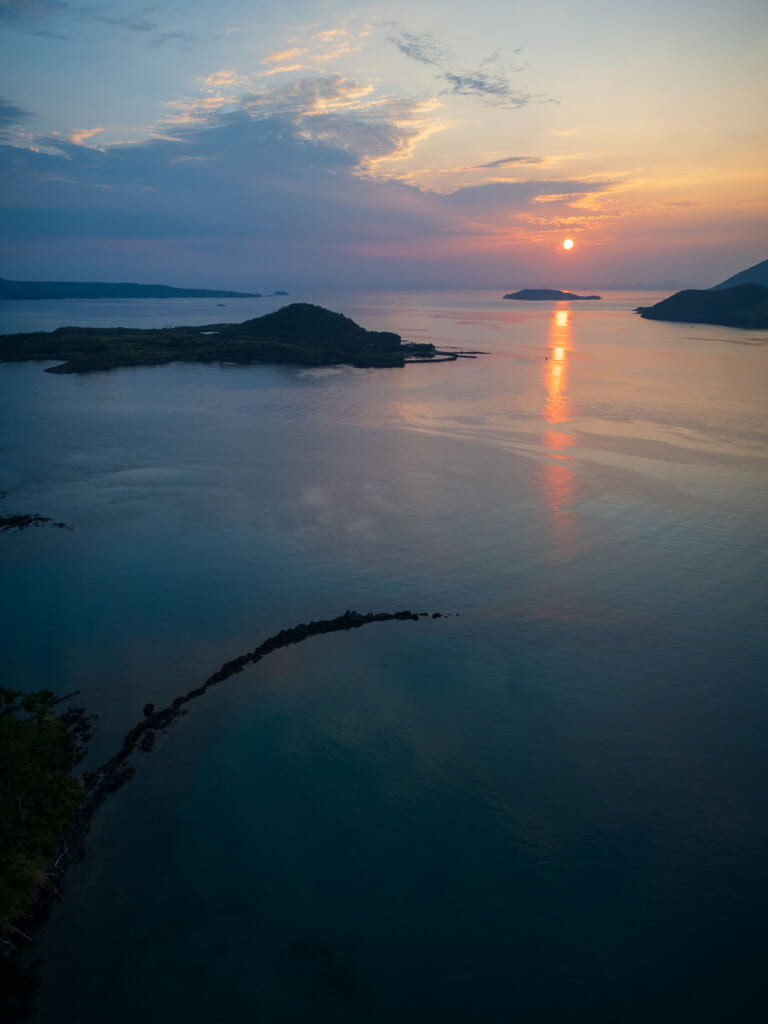
[[451,95],[474,96],[506,108],[557,102],[548,96],[515,88],[511,75],[524,71],[524,68],[505,63],[499,53],[493,53],[475,68],[463,69],[457,67],[455,54],[431,33],[400,32],[388,38],[410,60],[434,68],[436,77],[447,85],[445,93]]

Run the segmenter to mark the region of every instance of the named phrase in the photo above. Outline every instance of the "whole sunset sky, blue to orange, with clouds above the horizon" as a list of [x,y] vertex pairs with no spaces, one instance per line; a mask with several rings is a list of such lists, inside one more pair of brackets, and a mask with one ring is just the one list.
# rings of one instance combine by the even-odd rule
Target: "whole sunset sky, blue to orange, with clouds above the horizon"
[[765,0],[0,0],[0,276],[710,287],[768,257],[767,39]]

